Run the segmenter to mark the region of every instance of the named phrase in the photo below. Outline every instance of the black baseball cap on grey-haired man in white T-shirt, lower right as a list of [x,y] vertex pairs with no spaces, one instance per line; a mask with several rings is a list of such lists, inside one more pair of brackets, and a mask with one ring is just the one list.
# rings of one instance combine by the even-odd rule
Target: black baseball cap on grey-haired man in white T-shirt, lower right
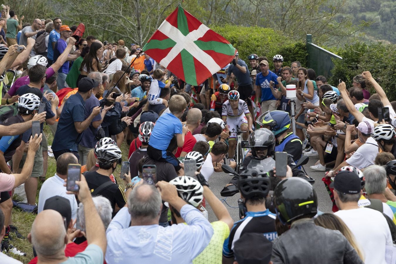
[[334,182],[330,184],[330,188],[334,188],[344,194],[358,194],[362,189],[362,185],[356,173],[352,171],[340,171],[335,175]]

